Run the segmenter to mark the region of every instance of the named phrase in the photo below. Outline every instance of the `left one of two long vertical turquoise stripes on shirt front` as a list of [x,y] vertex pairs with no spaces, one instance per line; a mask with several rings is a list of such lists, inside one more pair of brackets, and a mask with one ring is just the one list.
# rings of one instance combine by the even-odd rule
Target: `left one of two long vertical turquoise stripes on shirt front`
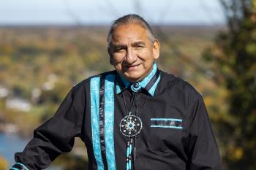
[[98,170],[104,170],[99,140],[99,80],[100,77],[91,78],[91,136],[94,149],[94,157]]

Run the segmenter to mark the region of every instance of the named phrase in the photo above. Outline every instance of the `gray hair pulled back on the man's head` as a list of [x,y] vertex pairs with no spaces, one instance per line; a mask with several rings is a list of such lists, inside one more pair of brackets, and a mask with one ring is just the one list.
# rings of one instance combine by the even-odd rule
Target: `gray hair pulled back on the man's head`
[[124,15],[123,17],[113,21],[112,25],[110,26],[110,31],[108,32],[108,39],[107,39],[108,47],[110,47],[110,43],[112,42],[113,31],[115,31],[118,26],[128,25],[130,23],[135,23],[145,28],[146,32],[148,33],[149,39],[151,39],[151,42],[154,42],[155,40],[154,33],[151,27],[146,22],[146,20],[144,20],[139,15],[129,14],[129,15]]

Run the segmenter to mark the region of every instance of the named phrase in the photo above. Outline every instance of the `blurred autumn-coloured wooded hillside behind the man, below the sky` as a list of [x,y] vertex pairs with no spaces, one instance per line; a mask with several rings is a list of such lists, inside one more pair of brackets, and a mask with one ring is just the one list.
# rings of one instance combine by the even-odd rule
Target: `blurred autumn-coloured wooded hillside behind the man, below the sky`
[[[212,45],[217,31],[224,28],[153,29],[161,43],[159,68],[183,77],[211,97],[216,89],[211,81],[213,73],[200,56]],[[72,85],[113,69],[108,61],[107,34],[108,26],[1,26],[1,122],[15,123],[28,133],[54,114]],[[212,98],[206,97],[206,101],[209,106],[214,104]]]

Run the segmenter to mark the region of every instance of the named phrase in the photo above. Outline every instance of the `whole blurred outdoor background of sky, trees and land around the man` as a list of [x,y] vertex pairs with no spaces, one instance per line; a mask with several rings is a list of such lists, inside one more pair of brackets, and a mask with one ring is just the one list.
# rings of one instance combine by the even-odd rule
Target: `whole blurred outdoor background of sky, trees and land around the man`
[[[202,93],[225,170],[256,168],[255,0],[0,0],[0,170],[72,85],[108,63],[110,23],[136,13],[161,43],[160,69]],[[80,139],[48,169],[86,169]]]

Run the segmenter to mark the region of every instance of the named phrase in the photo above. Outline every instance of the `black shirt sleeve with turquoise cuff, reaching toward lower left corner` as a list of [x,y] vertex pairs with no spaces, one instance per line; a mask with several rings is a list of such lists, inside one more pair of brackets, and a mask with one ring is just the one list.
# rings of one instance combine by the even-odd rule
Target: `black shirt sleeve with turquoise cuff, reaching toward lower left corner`
[[81,136],[85,93],[72,88],[56,114],[34,130],[34,137],[23,152],[15,153],[11,169],[46,169],[61,153],[72,150]]

